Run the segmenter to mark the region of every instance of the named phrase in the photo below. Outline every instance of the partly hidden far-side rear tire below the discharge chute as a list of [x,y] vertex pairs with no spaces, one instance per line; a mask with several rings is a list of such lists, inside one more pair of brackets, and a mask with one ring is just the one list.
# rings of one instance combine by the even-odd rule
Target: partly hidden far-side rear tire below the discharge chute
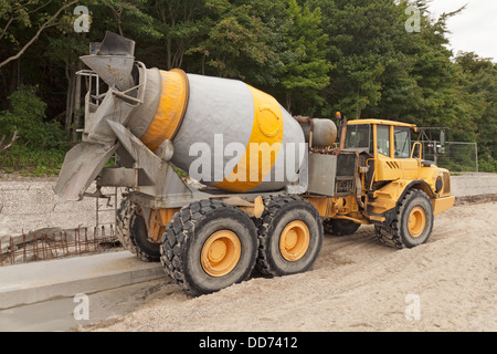
[[160,244],[148,241],[147,227],[136,212],[138,205],[123,198],[117,209],[116,236],[123,247],[145,262],[160,260]]

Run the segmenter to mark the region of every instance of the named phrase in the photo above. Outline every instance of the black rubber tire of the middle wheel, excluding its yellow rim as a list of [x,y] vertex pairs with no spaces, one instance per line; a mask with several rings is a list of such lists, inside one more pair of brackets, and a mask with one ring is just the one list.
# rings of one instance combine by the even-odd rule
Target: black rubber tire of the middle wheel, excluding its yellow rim
[[[265,277],[302,273],[315,263],[322,246],[322,223],[316,208],[292,196],[264,198],[264,212],[256,219],[258,256],[256,270]],[[305,223],[309,233],[308,247],[297,260],[289,260],[282,249],[282,235],[292,222]]]

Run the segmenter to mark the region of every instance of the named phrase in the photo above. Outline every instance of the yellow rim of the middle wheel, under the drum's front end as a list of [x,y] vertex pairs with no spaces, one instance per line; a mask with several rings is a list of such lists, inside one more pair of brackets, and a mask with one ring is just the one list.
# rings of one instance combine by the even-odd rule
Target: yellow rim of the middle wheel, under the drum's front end
[[292,221],[279,237],[279,251],[290,262],[298,261],[309,248],[309,228],[303,221]]

